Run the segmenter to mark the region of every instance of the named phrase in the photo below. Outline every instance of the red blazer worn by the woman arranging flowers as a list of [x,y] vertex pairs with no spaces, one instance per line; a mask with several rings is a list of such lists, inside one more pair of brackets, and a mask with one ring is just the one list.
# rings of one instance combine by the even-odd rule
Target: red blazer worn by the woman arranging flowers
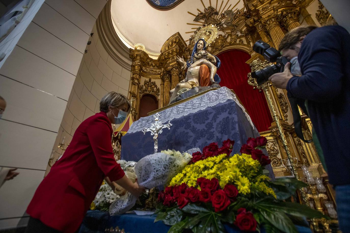
[[65,233],[78,230],[105,176],[124,176],[113,155],[112,126],[105,112],[83,121],[70,145],[37,188],[27,213]]

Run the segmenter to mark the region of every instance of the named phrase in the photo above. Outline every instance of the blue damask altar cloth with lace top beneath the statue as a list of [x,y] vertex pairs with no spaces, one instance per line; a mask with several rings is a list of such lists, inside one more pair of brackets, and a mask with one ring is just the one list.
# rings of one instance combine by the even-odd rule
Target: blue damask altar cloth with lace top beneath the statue
[[[235,140],[233,153],[239,152],[248,137],[259,137],[250,116],[227,87],[211,90],[194,99],[177,104],[159,112],[159,120],[173,124],[170,130],[163,129],[158,137],[158,151],[174,149],[180,152],[198,147],[201,150],[209,143],[222,146],[226,139]],[[151,133],[141,132],[154,122],[153,116],[135,121],[121,140],[121,159],[139,161],[154,153]],[[265,154],[266,151],[265,151]],[[266,166],[270,170],[271,166]]]

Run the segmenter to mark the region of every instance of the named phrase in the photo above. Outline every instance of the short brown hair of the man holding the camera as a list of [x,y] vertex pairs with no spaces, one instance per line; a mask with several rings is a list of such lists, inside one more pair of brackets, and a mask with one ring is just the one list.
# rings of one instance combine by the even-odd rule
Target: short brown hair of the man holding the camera
[[300,37],[309,34],[312,30],[316,29],[316,26],[307,25],[300,26],[290,30],[286,33],[286,35],[282,38],[280,45],[278,46],[278,50],[281,51],[283,49],[294,49],[293,45],[300,41]]

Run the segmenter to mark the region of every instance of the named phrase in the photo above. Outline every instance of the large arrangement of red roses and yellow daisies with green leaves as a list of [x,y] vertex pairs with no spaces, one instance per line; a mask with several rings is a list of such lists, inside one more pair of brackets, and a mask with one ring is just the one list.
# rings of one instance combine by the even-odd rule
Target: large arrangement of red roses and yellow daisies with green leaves
[[[241,154],[232,156],[234,141],[211,143],[177,173],[158,196],[155,221],[172,225],[169,232],[225,232],[224,223],[242,231],[297,232],[293,221],[320,218],[306,205],[285,202],[304,187],[295,179],[271,182],[264,166],[271,161],[261,149],[266,138],[249,138]],[[267,173],[266,173],[267,172]]]

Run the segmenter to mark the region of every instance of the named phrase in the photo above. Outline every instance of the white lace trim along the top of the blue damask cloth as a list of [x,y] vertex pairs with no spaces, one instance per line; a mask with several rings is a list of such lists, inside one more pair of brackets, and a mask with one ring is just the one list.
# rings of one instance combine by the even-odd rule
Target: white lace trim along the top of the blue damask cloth
[[[204,110],[208,107],[213,107],[218,103],[224,103],[228,100],[233,100],[242,109],[245,116],[247,117],[250,125],[255,128],[252,119],[245,111],[243,105],[238,101],[236,94],[232,93],[227,87],[222,87],[217,90],[211,90],[203,95],[200,95],[194,99],[188,100],[186,102],[177,104],[171,108],[165,109],[158,112],[160,117],[159,121],[166,123],[172,121],[173,119],[187,116],[193,114],[199,110]],[[135,133],[149,127],[154,122],[153,116],[141,117],[138,121],[135,121],[127,133]]]

